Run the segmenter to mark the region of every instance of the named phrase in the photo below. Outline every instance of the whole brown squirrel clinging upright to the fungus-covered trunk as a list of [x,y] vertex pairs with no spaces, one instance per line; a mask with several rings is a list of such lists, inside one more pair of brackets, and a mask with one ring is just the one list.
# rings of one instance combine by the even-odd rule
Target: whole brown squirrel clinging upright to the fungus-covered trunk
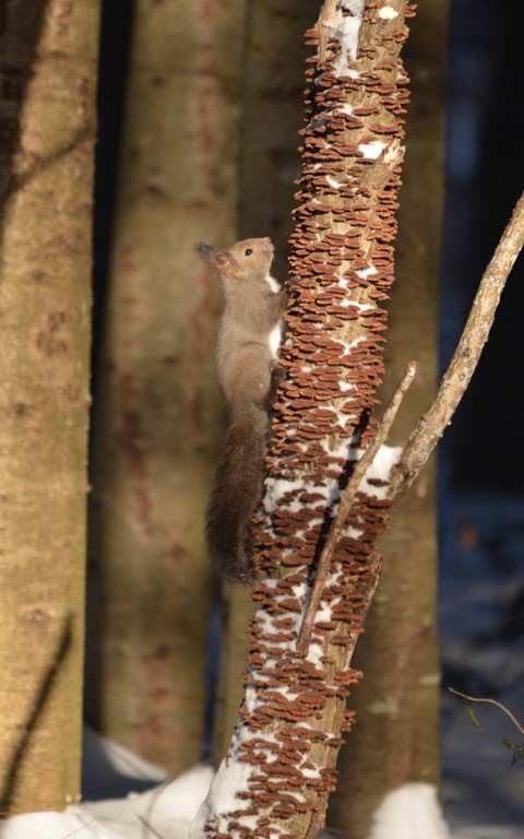
[[195,253],[217,273],[225,307],[215,370],[228,409],[228,427],[206,512],[206,537],[222,577],[250,582],[250,520],[263,489],[267,412],[282,378],[277,351],[287,294],[270,275],[270,238],[245,239],[222,250],[198,243]]

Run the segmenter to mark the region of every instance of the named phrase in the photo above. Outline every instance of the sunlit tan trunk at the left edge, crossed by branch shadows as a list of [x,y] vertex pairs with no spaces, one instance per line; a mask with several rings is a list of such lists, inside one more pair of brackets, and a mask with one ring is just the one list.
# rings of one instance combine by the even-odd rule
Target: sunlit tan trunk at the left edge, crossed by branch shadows
[[98,13],[0,14],[2,816],[80,792]]

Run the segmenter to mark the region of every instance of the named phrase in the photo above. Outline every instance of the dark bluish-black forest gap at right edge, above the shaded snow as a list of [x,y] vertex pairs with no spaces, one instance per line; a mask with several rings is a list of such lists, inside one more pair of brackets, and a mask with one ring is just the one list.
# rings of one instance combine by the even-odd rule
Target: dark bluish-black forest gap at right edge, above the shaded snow
[[[477,0],[475,14],[468,0],[451,4],[442,366],[454,350],[481,273],[524,188],[524,113],[517,72],[524,7],[517,0],[505,0],[495,16],[489,12],[488,0]],[[485,25],[488,19],[489,27]],[[488,615],[497,625],[503,624],[503,604],[512,598],[503,591],[504,581],[511,589],[522,563],[523,271],[521,253],[472,385],[440,447],[444,638],[465,633],[480,642],[491,637],[495,624],[489,624]],[[520,577],[522,581],[522,574]],[[475,601],[480,596],[478,587],[488,580],[500,592],[497,604],[483,608]],[[467,686],[467,666],[462,678]]]

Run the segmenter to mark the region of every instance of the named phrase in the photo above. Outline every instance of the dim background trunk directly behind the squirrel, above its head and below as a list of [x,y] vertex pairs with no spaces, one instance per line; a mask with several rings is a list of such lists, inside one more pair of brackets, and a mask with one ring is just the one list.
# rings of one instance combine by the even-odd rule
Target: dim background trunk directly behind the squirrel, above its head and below
[[[318,0],[252,0],[246,33],[240,149],[239,235],[271,236],[273,273],[287,274],[293,194],[299,175],[298,130],[303,122],[303,33],[318,15]],[[251,592],[225,587],[221,676],[214,757],[224,757],[243,695]]]

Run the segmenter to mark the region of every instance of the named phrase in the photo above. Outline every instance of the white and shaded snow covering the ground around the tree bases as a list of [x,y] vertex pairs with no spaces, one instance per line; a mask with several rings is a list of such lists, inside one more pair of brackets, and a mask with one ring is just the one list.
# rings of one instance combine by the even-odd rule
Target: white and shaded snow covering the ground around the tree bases
[[[444,732],[455,744],[454,772],[444,781],[452,829],[442,817],[436,789],[409,783],[384,799],[369,839],[522,839],[524,769],[509,769],[511,755],[500,743],[501,736],[515,741],[514,732],[495,707],[475,710],[480,732],[462,709],[452,713],[451,728]],[[64,813],[14,816],[1,823],[0,839],[187,839],[213,778],[211,767],[200,765],[171,780],[158,767],[92,732],[86,733],[84,748],[84,789],[95,800]],[[124,790],[131,792],[124,795]],[[120,797],[111,797],[116,791]],[[324,839],[329,836],[324,834]]]

